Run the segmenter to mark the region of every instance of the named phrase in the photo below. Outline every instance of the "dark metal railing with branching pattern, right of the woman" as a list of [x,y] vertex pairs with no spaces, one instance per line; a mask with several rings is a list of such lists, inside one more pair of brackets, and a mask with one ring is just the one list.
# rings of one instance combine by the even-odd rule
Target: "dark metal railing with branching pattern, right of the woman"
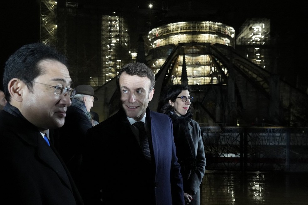
[[308,127],[201,127],[207,170],[308,172]]

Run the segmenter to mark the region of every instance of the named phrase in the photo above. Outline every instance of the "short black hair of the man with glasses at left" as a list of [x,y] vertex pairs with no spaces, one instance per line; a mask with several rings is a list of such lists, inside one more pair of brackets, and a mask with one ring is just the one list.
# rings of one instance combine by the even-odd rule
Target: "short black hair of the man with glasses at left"
[[5,62],[3,73],[3,92],[10,102],[8,83],[13,78],[18,78],[26,83],[29,89],[33,88],[32,81],[42,75],[38,64],[43,60],[55,60],[67,66],[67,59],[63,54],[49,45],[43,43],[29,43],[20,47]]

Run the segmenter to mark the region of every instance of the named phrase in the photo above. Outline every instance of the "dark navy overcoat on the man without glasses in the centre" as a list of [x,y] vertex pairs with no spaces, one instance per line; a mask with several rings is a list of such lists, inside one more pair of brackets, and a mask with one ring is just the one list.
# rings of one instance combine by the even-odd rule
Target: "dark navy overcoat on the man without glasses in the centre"
[[143,156],[122,109],[88,130],[82,164],[85,204],[99,204],[97,197],[103,204],[184,204],[171,119],[147,108],[146,120],[152,164]]

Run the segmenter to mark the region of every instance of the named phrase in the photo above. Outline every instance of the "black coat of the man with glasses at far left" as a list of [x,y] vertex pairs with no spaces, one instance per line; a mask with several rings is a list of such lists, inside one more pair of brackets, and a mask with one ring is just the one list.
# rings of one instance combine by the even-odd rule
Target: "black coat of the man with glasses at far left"
[[26,119],[0,112],[0,203],[83,204],[53,144]]

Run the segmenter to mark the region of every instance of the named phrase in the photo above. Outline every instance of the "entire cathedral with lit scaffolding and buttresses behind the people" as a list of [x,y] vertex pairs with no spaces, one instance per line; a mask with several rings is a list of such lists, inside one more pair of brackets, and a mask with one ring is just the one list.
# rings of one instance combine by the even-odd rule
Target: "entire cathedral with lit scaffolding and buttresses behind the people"
[[[92,110],[100,121],[118,109],[114,77],[122,65],[136,61],[125,21],[117,13],[79,8],[74,0],[41,1],[41,41],[58,45],[69,57],[76,85],[95,88],[100,100]],[[237,35],[221,22],[171,22],[152,28],[142,40],[138,53],[145,54],[157,79],[151,110],[165,86],[187,83],[201,125],[307,124],[302,114],[307,95],[276,75],[269,19],[247,19]]]

